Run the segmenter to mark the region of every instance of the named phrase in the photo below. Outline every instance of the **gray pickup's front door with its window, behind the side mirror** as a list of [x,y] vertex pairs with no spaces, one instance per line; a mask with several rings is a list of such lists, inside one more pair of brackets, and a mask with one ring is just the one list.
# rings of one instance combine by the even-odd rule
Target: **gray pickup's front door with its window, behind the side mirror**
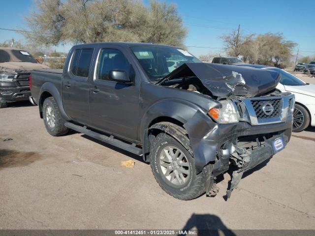
[[[90,85],[91,124],[103,131],[137,139],[139,83],[122,49],[100,48]],[[109,80],[109,71],[124,70],[134,82],[126,85]]]

